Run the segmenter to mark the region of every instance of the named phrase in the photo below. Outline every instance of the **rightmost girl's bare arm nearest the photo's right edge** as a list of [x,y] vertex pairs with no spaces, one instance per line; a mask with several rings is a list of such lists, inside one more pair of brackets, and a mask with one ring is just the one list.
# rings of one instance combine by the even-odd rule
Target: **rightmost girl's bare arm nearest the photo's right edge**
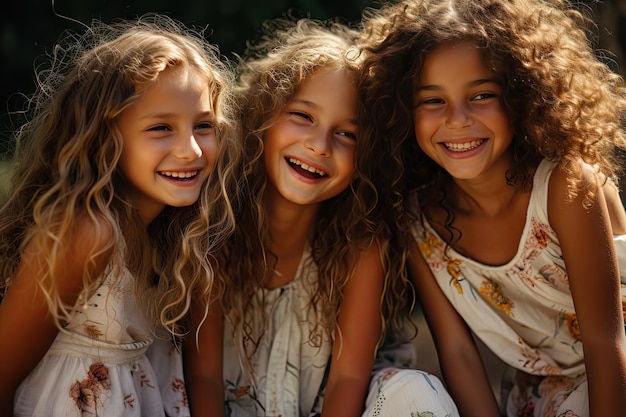
[[598,186],[591,200],[583,204],[587,187],[597,181],[593,173],[584,170],[583,185],[569,201],[565,173],[557,168],[550,178],[548,196],[550,225],[563,252],[586,353],[588,343],[615,344],[624,338],[619,272],[604,188]]

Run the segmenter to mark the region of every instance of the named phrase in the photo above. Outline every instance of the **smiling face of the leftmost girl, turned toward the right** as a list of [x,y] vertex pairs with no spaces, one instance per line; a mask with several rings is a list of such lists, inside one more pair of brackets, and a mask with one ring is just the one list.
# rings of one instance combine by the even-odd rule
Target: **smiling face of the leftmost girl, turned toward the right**
[[163,71],[121,114],[119,169],[144,223],[165,206],[193,204],[217,152],[208,83],[184,69]]

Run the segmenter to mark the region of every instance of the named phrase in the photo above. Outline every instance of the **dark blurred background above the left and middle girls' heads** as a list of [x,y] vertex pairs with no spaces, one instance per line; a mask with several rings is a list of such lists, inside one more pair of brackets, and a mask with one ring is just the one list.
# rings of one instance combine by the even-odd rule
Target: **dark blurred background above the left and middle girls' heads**
[[[35,89],[35,70],[45,61],[63,31],[82,31],[97,19],[135,18],[149,12],[207,28],[208,39],[228,58],[241,53],[257,36],[261,23],[287,10],[316,19],[360,19],[368,0],[9,0],[0,11],[0,156],[9,150],[10,135],[23,120],[24,95]],[[44,59],[44,61],[42,61]]]

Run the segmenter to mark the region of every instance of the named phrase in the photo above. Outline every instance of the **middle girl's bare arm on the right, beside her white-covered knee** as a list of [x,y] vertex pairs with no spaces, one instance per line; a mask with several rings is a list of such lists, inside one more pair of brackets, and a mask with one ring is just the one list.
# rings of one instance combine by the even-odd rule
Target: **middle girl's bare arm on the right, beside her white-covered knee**
[[345,288],[323,417],[359,417],[363,413],[380,336],[382,281],[378,247],[374,245],[361,254]]

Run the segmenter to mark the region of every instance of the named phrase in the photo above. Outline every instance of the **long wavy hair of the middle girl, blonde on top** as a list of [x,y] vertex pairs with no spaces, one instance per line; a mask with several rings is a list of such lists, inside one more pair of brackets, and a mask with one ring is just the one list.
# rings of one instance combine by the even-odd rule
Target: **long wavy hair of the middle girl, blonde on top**
[[[287,16],[266,22],[263,33],[257,42],[249,44],[240,62],[237,97],[246,155],[241,168],[241,198],[236,204],[237,228],[222,252],[219,271],[227,283],[223,297],[227,317],[233,322],[234,331],[240,329],[243,339],[252,345],[252,351],[248,346],[238,347],[240,354],[245,355],[244,360],[253,353],[262,337],[251,334],[249,323],[263,311],[263,301],[258,300],[256,294],[264,285],[264,271],[271,269],[275,262],[269,252],[271,236],[264,204],[267,174],[261,158],[263,136],[276,123],[299,86],[312,74],[325,68],[341,69],[350,74],[356,84],[360,63],[354,47],[359,33],[336,21]],[[357,143],[359,141],[357,138]],[[367,149],[357,147],[362,148],[357,153]],[[318,271],[318,286],[310,307],[321,313],[320,325],[331,338],[355,261],[374,241],[381,248],[385,266],[386,295],[381,299],[383,328],[394,320],[387,314],[394,308],[387,295],[392,280],[387,244],[384,236],[376,235],[368,218],[376,195],[367,179],[359,175],[358,162],[356,164],[357,173],[351,187],[322,203],[310,242],[312,260]]]

